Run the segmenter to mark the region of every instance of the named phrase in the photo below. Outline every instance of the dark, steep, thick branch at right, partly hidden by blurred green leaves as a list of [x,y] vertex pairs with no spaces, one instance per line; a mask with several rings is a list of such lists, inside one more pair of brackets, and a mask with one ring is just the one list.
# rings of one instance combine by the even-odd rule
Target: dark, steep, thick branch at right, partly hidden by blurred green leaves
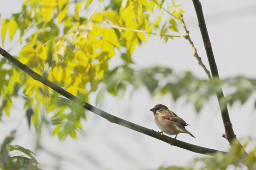
[[[213,55],[213,51],[211,48],[210,38],[209,38],[208,31],[206,28],[201,3],[199,0],[192,0],[192,1],[194,4],[195,11],[196,11],[199,28],[200,28],[203,43],[204,43],[204,48],[205,48],[207,58],[209,61],[211,75],[212,75],[212,77],[219,79],[218,68],[217,68],[217,65],[216,65],[216,62],[214,59],[214,55]],[[236,139],[237,137],[234,133],[234,130],[233,130],[230,118],[229,118],[227,102],[225,100],[223,100],[223,99],[225,99],[225,97],[224,97],[222,88],[220,89],[220,92],[218,92],[216,94],[217,94],[217,98],[218,98],[218,102],[219,102],[219,106],[220,106],[220,110],[221,110],[221,117],[222,117],[224,128],[225,128],[225,136],[224,137],[229,141],[229,144],[231,144],[232,141],[234,139]]]

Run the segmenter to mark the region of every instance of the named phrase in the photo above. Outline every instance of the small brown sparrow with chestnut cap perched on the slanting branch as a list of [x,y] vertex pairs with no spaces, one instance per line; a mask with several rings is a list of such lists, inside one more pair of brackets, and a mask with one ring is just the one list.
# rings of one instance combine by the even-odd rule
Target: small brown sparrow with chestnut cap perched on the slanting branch
[[161,135],[165,132],[169,135],[176,135],[174,137],[174,139],[176,139],[179,133],[187,133],[195,138],[195,136],[185,128],[185,126],[189,124],[178,117],[173,111],[169,110],[165,105],[157,104],[153,109],[150,109],[150,111],[154,113],[155,124],[162,130],[159,132]]

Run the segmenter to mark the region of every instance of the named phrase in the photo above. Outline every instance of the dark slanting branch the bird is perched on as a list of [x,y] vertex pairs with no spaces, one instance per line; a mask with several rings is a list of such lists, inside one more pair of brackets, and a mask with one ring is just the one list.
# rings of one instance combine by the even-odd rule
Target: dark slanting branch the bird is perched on
[[[105,112],[101,109],[98,109],[98,108],[92,106],[91,104],[89,104],[87,102],[83,102],[81,99],[79,99],[76,96],[74,96],[73,94],[67,92],[66,90],[64,90],[60,86],[55,85],[53,82],[49,81],[45,77],[37,74],[35,71],[28,68],[25,64],[18,61],[18,59],[14,58],[12,55],[10,55],[7,51],[3,50],[2,48],[0,48],[0,54],[3,57],[7,58],[9,60],[9,62],[13,63],[15,66],[17,66],[18,68],[20,68],[21,70],[26,72],[33,79],[47,85],[48,87],[50,87],[51,89],[53,89],[57,93],[60,93],[61,95],[65,96],[66,98],[68,98],[72,102],[75,102],[78,105],[80,105],[81,107],[83,107],[84,109],[90,110],[91,112],[101,116],[102,118],[105,118],[105,119],[109,120],[111,123],[116,123],[116,124],[121,125],[123,127],[128,127],[128,128],[130,128],[132,130],[135,130],[137,132],[143,133],[143,134],[148,135],[148,136],[152,136],[152,137],[154,137],[156,139],[159,139],[161,141],[164,141],[168,144],[171,144],[171,145],[174,145],[174,146],[177,146],[177,147],[180,147],[180,148],[183,148],[183,149],[195,152],[195,153],[211,155],[212,153],[215,153],[215,152],[218,151],[218,150],[214,150],[214,149],[210,149],[210,148],[197,146],[197,145],[194,145],[194,144],[188,144],[188,143],[176,140],[174,138],[171,138],[169,136],[165,136],[165,135],[161,136],[160,133],[155,132],[154,130],[148,129],[146,127],[139,126],[139,125],[134,124],[132,122],[129,122],[127,120],[120,119],[116,116],[113,116],[113,115],[111,115],[111,114],[109,114],[109,113],[107,113],[107,112]],[[219,151],[219,152],[222,152],[222,151]],[[226,152],[222,152],[222,153],[226,153]]]

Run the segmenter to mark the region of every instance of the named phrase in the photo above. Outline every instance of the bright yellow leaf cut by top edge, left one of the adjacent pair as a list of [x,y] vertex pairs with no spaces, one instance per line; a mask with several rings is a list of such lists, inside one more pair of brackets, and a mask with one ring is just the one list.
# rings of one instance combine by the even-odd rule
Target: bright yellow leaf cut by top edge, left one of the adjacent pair
[[51,20],[55,3],[56,0],[43,0],[42,17],[45,23],[44,26]]

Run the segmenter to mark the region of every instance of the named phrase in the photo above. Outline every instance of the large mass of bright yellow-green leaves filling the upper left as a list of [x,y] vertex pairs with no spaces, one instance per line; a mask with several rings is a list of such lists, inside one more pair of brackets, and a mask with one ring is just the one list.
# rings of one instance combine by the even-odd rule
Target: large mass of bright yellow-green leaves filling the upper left
[[[118,0],[116,5],[105,7],[99,1],[101,10],[97,10],[96,6],[91,11],[92,0],[87,0],[85,4],[70,0],[25,0],[20,12],[2,20],[2,44],[8,32],[11,42],[15,36],[18,37],[20,43],[26,43],[17,56],[19,61],[88,101],[89,94],[95,92],[100,83],[110,82],[108,72],[112,57],[120,56],[125,63],[133,63],[131,56],[136,46],[146,43],[152,31],[178,34],[175,16],[162,19],[164,14],[159,14],[162,8],[158,3]],[[168,8],[176,10],[174,4]],[[82,15],[82,10],[90,15]],[[170,35],[167,37],[173,38]],[[53,134],[60,139],[67,135],[76,137],[76,131],[81,129],[80,120],[86,118],[84,111],[75,109],[71,103],[61,103],[64,100],[59,100],[60,96],[46,85],[15,67],[5,67],[5,63],[6,59],[0,60],[0,115],[5,112],[9,116],[13,98],[22,97],[25,99],[28,125],[32,122],[37,132],[40,132],[45,120],[55,126]],[[144,77],[143,74],[141,77]],[[157,82],[154,85],[147,82],[146,85],[153,90]],[[125,89],[122,86],[124,84],[119,83],[113,88]],[[111,88],[108,87],[108,92],[115,94]],[[97,96],[98,101],[102,98],[101,94]]]

